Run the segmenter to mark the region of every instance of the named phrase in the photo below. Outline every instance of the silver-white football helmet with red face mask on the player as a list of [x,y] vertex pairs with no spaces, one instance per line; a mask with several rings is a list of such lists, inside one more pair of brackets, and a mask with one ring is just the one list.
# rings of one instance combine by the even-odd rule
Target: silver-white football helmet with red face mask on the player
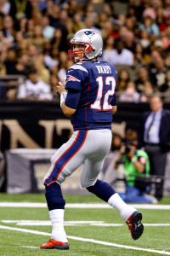
[[[84,49],[75,51],[74,44],[83,44]],[[68,54],[71,61],[87,61],[102,55],[102,48],[103,40],[99,33],[92,29],[81,29],[71,38],[71,49]]]

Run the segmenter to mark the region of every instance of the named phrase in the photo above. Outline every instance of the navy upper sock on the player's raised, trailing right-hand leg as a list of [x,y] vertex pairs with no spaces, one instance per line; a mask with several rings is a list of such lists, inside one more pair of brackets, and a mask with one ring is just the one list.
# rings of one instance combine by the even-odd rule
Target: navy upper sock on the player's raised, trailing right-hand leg
[[110,184],[105,183],[99,179],[94,184],[94,186],[90,186],[86,189],[88,189],[89,192],[97,195],[100,199],[106,202],[110,199],[111,195],[114,195],[116,193],[116,191],[111,187]]

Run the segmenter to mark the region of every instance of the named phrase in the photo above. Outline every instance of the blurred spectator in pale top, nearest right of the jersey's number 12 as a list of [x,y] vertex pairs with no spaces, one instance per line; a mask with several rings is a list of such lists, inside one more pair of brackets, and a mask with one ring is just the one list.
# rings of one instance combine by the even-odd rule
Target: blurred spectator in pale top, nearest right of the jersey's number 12
[[136,86],[132,81],[127,82],[127,88],[119,97],[120,102],[139,102],[139,93],[136,91]]

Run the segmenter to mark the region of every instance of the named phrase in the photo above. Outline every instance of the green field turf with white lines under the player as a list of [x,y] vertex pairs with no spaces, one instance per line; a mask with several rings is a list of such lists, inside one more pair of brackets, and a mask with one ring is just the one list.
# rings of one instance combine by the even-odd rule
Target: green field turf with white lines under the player
[[[1,194],[0,202],[2,201],[45,202],[45,198],[41,194]],[[67,203],[102,202],[93,195],[65,195],[65,201]],[[170,197],[164,197],[159,204],[170,204]],[[141,209],[140,212],[143,213],[144,224],[170,224],[170,210]],[[17,223],[4,223],[2,222],[4,220],[48,221],[47,208],[0,207],[0,225],[51,233],[51,226],[19,225]],[[17,230],[3,230],[0,228],[0,255],[170,255],[170,226],[145,225],[143,236],[139,240],[133,241],[127,229],[127,224],[124,224],[116,210],[65,208],[65,221],[102,221],[104,224],[122,224],[122,226],[116,227],[90,224],[65,226],[67,236],[110,242],[120,247],[69,238],[70,250],[40,250],[39,246],[48,241],[48,235],[42,236],[41,234],[30,234],[27,231],[23,233]],[[142,248],[146,251],[133,250],[122,246]],[[159,253],[150,252],[149,249],[157,250]]]

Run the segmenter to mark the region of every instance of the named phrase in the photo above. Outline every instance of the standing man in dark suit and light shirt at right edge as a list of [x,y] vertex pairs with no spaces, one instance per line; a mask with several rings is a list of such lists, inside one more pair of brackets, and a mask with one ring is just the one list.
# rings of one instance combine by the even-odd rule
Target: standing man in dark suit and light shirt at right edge
[[[150,174],[164,177],[167,152],[170,148],[170,112],[162,108],[160,96],[150,99],[150,111],[144,112],[139,125],[139,148],[149,155]],[[158,201],[163,196],[163,179],[156,187]]]

